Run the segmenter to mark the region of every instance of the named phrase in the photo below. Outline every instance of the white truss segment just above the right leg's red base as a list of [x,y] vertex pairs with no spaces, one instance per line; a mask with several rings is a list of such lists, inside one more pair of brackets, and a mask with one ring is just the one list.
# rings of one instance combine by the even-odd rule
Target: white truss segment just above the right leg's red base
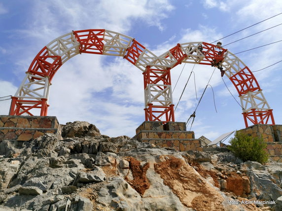
[[267,103],[261,90],[249,91],[239,97],[241,100],[241,105],[244,108],[243,112],[248,112],[251,109],[256,109],[258,111],[270,109],[270,106]]

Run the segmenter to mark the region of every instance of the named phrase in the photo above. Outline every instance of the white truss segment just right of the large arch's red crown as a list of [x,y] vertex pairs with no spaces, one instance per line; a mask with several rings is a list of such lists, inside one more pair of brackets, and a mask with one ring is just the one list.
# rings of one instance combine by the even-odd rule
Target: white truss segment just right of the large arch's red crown
[[123,57],[133,37],[126,36],[115,31],[105,30],[103,54]]

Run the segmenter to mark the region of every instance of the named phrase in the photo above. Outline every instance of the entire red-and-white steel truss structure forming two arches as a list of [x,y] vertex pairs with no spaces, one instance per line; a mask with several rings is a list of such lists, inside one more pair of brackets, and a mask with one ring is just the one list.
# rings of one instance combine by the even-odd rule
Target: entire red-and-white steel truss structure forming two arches
[[239,93],[246,127],[275,124],[257,80],[238,57],[220,44],[188,42],[177,44],[156,56],[134,38],[110,30],[77,30],[60,36],[35,56],[19,89],[12,97],[10,115],[32,115],[40,109],[47,116],[49,87],[60,66],[77,54],[104,54],[123,57],[143,72],[145,120],[175,121],[171,69],[182,62],[219,68]]

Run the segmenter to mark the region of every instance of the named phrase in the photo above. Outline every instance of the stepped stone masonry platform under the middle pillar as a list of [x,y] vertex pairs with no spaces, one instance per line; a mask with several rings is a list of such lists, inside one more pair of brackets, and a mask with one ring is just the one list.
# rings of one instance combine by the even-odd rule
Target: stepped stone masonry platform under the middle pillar
[[177,151],[202,151],[201,141],[195,139],[193,131],[186,131],[185,122],[144,121],[137,129],[135,138],[160,147],[171,147]]

